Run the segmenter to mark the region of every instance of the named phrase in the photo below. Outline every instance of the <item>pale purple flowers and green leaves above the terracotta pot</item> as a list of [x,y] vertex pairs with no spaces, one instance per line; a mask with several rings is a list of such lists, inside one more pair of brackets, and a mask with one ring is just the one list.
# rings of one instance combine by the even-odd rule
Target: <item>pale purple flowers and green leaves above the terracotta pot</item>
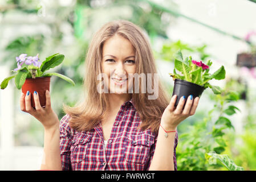
[[12,73],[13,75],[5,78],[1,83],[1,89],[5,89],[9,81],[15,77],[15,85],[18,89],[22,88],[22,85],[25,83],[26,78],[36,78],[36,77],[48,77],[48,76],[58,76],[63,80],[70,82],[72,85],[75,85],[75,82],[70,78],[61,75],[59,73],[46,73],[50,68],[54,68],[62,63],[64,60],[64,55],[59,55],[55,53],[46,58],[42,63],[39,61],[39,54],[36,56],[27,56],[27,54],[22,53],[16,57],[17,66]]

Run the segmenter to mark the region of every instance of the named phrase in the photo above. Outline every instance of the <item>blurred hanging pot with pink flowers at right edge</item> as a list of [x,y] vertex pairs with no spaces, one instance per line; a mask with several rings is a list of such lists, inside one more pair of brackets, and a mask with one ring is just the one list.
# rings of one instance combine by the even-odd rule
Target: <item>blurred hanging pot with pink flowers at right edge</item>
[[256,35],[255,31],[249,32],[245,37],[246,42],[249,43],[250,51],[238,53],[237,55],[238,67],[247,67],[247,68],[256,67],[256,46],[255,46],[255,43],[253,43],[253,41],[251,40],[251,37],[253,35]]

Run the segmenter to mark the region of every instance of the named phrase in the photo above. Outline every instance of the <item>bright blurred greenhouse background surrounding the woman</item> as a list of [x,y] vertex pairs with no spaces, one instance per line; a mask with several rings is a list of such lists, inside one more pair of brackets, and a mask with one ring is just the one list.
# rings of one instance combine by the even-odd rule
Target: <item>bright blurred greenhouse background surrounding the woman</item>
[[189,64],[192,78],[202,72],[210,80],[196,112],[177,127],[177,171],[256,170],[255,17],[254,0],[0,1],[0,81],[10,78],[0,91],[0,170],[39,170],[44,156],[44,127],[21,110],[22,55],[27,61],[64,55],[55,56],[63,62],[51,72],[66,77],[52,76],[50,83],[51,107],[60,120],[63,104],[75,106],[83,97],[93,35],[120,19],[143,30],[169,96],[174,80],[191,72]]

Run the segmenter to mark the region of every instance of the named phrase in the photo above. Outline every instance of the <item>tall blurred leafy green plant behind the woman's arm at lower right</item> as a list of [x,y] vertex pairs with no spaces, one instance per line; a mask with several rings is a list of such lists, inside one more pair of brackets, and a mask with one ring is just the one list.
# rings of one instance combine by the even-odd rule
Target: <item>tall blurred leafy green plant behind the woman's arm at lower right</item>
[[[193,125],[188,126],[188,131],[179,135],[180,143],[177,146],[177,165],[179,170],[209,170],[223,169],[221,164],[210,165],[206,154],[213,152],[222,154],[226,148],[225,133],[233,130],[230,115],[239,109],[234,102],[238,100],[237,93],[224,92],[211,96],[215,101],[213,109]],[[217,114],[217,115],[216,115]]]

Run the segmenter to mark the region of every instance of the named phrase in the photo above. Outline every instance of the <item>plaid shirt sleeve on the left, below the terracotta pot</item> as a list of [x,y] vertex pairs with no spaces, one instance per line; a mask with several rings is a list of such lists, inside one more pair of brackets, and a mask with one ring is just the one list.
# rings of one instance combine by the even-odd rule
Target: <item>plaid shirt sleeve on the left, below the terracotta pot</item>
[[62,170],[71,170],[70,163],[70,144],[72,140],[71,128],[68,124],[70,115],[66,114],[60,120],[60,159],[62,161]]

